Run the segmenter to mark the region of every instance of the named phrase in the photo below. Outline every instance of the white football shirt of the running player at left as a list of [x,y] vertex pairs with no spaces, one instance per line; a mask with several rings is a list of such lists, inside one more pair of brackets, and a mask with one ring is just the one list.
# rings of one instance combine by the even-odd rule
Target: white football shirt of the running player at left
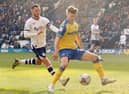
[[[41,16],[38,20],[31,17],[26,21],[24,31],[27,31],[28,34],[31,35],[29,36],[31,39],[31,45],[35,48],[46,46],[46,27],[49,22],[50,21],[47,18]],[[43,30],[44,32],[37,35],[38,30]]]

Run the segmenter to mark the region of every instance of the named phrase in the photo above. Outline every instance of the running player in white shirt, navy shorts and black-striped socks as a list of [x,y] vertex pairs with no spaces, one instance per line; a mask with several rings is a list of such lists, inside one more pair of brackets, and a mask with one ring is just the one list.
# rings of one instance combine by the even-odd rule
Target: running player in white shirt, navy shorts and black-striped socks
[[[24,27],[24,37],[31,39],[31,47],[33,52],[36,55],[36,58],[30,59],[16,59],[12,65],[14,69],[20,63],[22,64],[35,64],[40,65],[44,64],[48,72],[51,75],[55,74],[55,71],[52,67],[50,60],[46,57],[46,28],[50,28],[54,32],[58,32],[58,28],[50,23],[50,21],[40,16],[41,9],[38,4],[35,4],[31,8],[32,17],[29,18]],[[63,79],[62,85],[66,85],[69,78]]]

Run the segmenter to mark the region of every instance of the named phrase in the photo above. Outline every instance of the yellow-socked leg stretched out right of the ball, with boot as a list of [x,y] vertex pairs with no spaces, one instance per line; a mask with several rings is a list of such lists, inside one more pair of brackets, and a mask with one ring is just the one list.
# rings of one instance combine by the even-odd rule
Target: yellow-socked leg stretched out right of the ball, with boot
[[106,84],[113,83],[116,81],[116,80],[111,80],[105,77],[104,70],[101,64],[102,59],[100,58],[100,56],[97,56],[96,54],[91,53],[91,52],[85,52],[82,55],[81,60],[88,60],[88,61],[93,62],[94,67],[96,71],[98,72],[99,77],[101,79],[102,85],[106,85]]

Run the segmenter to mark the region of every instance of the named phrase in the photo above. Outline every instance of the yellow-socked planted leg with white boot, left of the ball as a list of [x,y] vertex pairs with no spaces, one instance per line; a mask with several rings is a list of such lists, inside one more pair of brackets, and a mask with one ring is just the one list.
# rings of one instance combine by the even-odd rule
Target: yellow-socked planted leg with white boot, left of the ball
[[[51,84],[50,84],[49,87],[48,87],[48,90],[49,90],[50,92],[53,92],[54,86],[55,86],[57,80],[60,79],[61,75],[63,74],[63,72],[64,72],[64,70],[65,70],[65,68],[68,66],[68,62],[69,62],[68,57],[62,57],[62,58],[61,58],[60,67],[59,67],[59,69],[57,69],[57,71],[55,72],[55,74],[54,74],[54,76],[53,76],[53,78],[52,78]],[[67,80],[69,80],[69,79],[67,79]]]

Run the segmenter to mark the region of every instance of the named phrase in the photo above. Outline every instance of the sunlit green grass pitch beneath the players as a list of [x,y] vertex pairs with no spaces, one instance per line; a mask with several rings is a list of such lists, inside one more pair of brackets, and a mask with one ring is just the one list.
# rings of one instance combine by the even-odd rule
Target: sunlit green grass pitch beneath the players
[[[48,94],[51,76],[43,65],[21,65],[15,70],[11,64],[15,58],[33,57],[31,53],[0,53],[0,94]],[[48,55],[51,59],[51,54]],[[90,62],[71,61],[63,76],[70,82],[62,87],[59,82],[54,94],[129,94],[129,57],[126,55],[103,55],[105,74],[117,79],[111,85],[102,86]],[[51,60],[52,61],[52,60]],[[58,62],[52,62],[55,69]],[[92,81],[88,86],[79,83],[79,75],[88,73]]]

